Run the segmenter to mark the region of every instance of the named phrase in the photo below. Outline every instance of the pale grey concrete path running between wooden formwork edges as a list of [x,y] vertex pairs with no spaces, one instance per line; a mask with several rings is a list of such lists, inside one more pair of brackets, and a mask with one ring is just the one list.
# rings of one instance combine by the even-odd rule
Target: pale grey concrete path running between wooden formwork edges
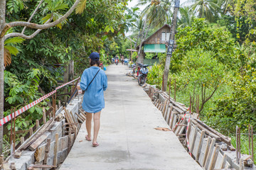
[[100,146],[93,148],[92,142],[85,140],[87,132],[82,125],[60,169],[202,169],[173,132],[154,130],[168,125],[137,81],[125,75],[127,70],[122,64],[107,67]]

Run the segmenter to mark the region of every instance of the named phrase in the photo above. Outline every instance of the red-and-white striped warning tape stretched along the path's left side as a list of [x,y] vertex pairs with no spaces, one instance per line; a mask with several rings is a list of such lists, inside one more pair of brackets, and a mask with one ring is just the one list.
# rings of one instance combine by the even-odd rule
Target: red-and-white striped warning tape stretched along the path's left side
[[[80,77],[78,77],[78,79],[80,79]],[[23,108],[20,108],[18,109],[18,111],[16,111],[15,113],[11,113],[12,114],[12,118],[18,116],[18,115],[21,115],[21,113],[25,112],[25,111],[28,111],[29,108],[32,108],[33,106],[36,106],[37,103],[40,103],[41,101],[45,100],[46,98],[52,96],[53,94],[56,93],[56,91],[60,88],[62,88],[63,86],[66,86],[78,79],[74,79],[73,81],[70,81],[68,83],[65,83],[61,86],[58,86],[54,91],[51,91],[49,94],[46,94],[45,96],[41,97],[41,98],[38,98],[36,101],[33,101],[32,103],[29,103],[28,105],[24,106]],[[1,125],[4,125],[5,123],[8,123],[10,120],[11,120],[11,114],[10,115],[7,115],[6,117],[2,118],[0,120],[0,126]]]

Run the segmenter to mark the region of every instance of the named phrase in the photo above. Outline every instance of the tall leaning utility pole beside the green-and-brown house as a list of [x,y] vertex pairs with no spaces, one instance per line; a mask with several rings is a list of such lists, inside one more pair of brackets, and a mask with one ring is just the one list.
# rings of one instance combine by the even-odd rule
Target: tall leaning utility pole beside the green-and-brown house
[[172,52],[174,51],[174,38],[175,38],[175,29],[176,29],[176,23],[177,23],[177,18],[178,18],[179,4],[180,4],[180,0],[175,0],[174,16],[171,21],[171,31],[170,31],[171,33],[170,33],[170,37],[169,37],[168,50],[167,50],[167,55],[166,55],[166,63],[165,63],[165,67],[164,67],[164,79],[163,79],[164,83],[162,86],[162,91],[166,91],[166,89],[167,89],[171,56],[172,56]]

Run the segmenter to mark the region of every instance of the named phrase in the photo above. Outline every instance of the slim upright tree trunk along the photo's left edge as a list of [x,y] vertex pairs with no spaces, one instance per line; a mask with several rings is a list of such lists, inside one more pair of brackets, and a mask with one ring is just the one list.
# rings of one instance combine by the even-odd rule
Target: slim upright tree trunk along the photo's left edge
[[[6,0],[0,0],[0,32],[5,24]],[[0,38],[0,119],[4,118],[4,37]],[[3,153],[3,128],[0,126],[0,154]]]

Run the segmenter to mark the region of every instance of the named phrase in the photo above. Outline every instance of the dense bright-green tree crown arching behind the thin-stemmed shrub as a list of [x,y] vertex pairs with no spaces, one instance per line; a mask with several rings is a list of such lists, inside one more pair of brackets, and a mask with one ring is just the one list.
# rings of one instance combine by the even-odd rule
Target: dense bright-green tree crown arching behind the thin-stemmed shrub
[[191,27],[178,28],[177,48],[171,62],[171,72],[181,69],[180,64],[186,52],[196,48],[212,52],[213,57],[228,68],[236,64],[234,45],[230,33],[223,28],[209,28],[204,19],[195,19]]

